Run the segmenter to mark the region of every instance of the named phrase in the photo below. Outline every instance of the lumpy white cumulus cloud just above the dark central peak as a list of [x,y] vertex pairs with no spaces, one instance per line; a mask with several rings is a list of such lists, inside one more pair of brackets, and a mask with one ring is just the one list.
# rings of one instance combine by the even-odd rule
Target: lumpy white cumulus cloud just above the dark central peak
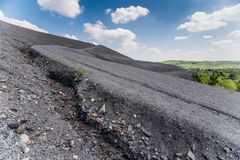
[[136,35],[127,29],[107,29],[101,21],[97,21],[96,24],[85,23],[84,30],[100,43],[118,44],[121,48],[138,47]]

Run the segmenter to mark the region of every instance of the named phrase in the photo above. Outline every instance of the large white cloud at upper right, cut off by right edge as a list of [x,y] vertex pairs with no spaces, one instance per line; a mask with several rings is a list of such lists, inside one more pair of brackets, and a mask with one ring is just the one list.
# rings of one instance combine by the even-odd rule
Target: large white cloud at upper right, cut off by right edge
[[212,13],[196,12],[189,19],[189,22],[179,25],[177,29],[201,32],[227,26],[229,22],[240,21],[240,3]]

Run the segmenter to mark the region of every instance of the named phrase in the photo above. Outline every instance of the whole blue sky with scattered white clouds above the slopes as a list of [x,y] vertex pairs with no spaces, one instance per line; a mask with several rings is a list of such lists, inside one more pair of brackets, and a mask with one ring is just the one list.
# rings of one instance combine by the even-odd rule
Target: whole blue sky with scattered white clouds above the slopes
[[0,0],[0,10],[3,21],[136,59],[240,60],[240,0]]

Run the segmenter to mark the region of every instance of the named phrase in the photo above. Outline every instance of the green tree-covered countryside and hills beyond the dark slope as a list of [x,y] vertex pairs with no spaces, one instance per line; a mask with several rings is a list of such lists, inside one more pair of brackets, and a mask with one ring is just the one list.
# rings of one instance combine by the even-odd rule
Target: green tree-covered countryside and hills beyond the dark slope
[[202,84],[240,91],[240,62],[165,61],[193,71],[193,80]]

